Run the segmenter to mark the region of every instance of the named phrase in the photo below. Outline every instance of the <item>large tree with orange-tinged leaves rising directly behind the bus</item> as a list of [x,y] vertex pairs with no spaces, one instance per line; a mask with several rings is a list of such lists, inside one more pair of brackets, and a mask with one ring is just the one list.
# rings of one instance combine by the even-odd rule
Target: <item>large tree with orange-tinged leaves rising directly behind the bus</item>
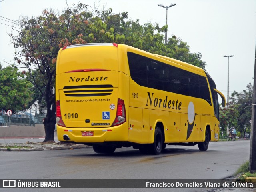
[[189,47],[176,37],[163,44],[162,29],[158,24],[140,25],[139,20],[128,20],[128,13],[113,14],[107,11],[87,10],[87,5],[77,4],[63,12],[44,10],[38,17],[20,17],[18,35],[10,34],[17,50],[17,66],[26,67],[39,91],[39,98],[44,97],[47,114],[44,120],[46,137],[44,141],[54,140],[55,120],[55,68],[58,50],[64,46],[82,43],[116,42],[128,44],[142,50],[176,59],[188,61],[205,67],[200,54],[190,54]]

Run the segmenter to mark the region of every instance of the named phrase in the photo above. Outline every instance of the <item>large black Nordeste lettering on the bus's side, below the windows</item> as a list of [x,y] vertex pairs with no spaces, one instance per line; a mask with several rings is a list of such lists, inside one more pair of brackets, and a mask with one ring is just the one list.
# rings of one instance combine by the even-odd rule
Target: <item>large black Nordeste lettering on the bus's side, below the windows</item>
[[181,105],[182,102],[179,102],[178,99],[175,100],[168,100],[168,96],[165,96],[165,99],[162,98],[153,98],[154,93],[148,92],[148,99],[147,99],[147,104],[146,106],[148,106],[148,103],[150,104],[150,106],[154,107],[163,107],[163,108],[168,108],[168,109],[175,109],[175,110],[181,110]]

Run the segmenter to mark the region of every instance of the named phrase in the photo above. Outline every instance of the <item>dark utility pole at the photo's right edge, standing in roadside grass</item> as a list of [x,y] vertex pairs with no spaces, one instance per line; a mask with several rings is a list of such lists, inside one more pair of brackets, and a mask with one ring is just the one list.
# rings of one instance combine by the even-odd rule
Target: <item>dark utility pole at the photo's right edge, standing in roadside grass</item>
[[[256,44],[255,44],[256,46]],[[254,78],[253,78],[253,98],[252,98],[252,124],[251,124],[251,143],[249,157],[249,171],[256,172],[256,47],[254,58]]]

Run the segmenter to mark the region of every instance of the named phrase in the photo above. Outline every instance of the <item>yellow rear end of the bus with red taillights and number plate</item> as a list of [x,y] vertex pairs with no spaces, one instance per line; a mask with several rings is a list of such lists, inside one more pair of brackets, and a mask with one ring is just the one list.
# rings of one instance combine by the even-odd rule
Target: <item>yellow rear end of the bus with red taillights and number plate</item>
[[120,72],[117,44],[81,44],[58,52],[56,122],[59,141],[85,143],[128,140],[129,78]]

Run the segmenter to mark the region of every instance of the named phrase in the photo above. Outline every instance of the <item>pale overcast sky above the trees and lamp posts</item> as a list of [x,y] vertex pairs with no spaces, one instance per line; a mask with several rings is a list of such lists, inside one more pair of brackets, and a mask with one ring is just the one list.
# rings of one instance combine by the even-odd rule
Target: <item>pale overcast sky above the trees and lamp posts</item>
[[[79,0],[67,0],[68,5]],[[168,8],[168,37],[175,35],[187,42],[190,52],[202,53],[206,70],[216,82],[217,89],[227,96],[228,58],[229,92],[241,92],[253,84],[256,43],[256,0],[80,0],[92,8],[99,6],[114,13],[128,12],[132,20],[165,24],[166,9],[157,4],[176,6]],[[66,0],[0,0],[0,62],[12,62],[14,48],[5,18],[18,20],[22,16],[39,16],[45,8],[62,11]],[[4,17],[4,18],[3,18]],[[10,21],[8,20],[8,21]],[[7,24],[7,25],[4,25]]]

